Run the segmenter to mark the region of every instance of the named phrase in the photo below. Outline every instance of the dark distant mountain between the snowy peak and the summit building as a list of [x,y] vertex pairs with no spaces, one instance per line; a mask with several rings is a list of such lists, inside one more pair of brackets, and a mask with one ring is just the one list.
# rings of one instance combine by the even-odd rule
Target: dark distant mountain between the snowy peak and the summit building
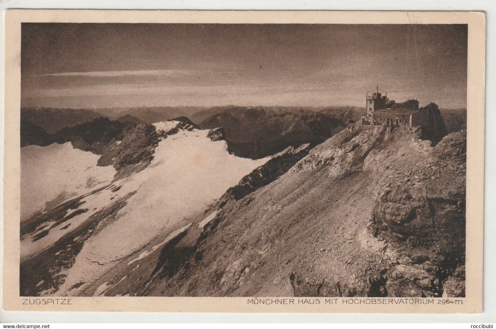
[[356,115],[350,109],[230,106],[202,111],[193,118],[201,120],[198,125],[204,129],[223,127],[231,153],[262,158],[288,146],[315,146],[355,122]]

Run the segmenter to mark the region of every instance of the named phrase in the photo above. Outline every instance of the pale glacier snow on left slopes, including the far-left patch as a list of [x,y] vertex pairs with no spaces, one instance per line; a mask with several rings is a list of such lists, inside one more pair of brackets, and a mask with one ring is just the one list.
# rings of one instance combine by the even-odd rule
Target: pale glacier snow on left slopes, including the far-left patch
[[[154,127],[157,132],[167,134],[172,130],[178,131],[179,124],[181,123],[156,123]],[[37,187],[40,199],[46,199],[46,195],[56,197],[57,193],[60,194],[57,190],[63,190],[71,195],[82,195],[79,208],[86,210],[63,222],[61,225],[70,224],[65,230],[54,227],[47,236],[36,241],[32,239],[34,233],[23,237],[22,257],[31,257],[54,245],[64,233],[76,229],[90,216],[98,214],[116,200],[125,200],[124,206],[112,218],[102,220],[84,241],[72,266],[62,269],[61,273],[65,275],[62,285],[58,289],[44,291],[43,294],[78,295],[116,263],[134,254],[138,258],[139,255],[146,256],[142,250],[150,246],[157,236],[171,234],[190,225],[188,218],[202,213],[228,188],[269,159],[237,157],[228,152],[225,140],[212,141],[207,133],[208,130],[180,129],[177,133],[167,135],[159,141],[153,160],[147,168],[113,182],[115,170],[112,167],[97,167],[98,155],[69,149],[70,143],[44,148],[36,146],[40,148],[37,153],[42,154],[44,168],[47,168],[44,172],[52,173],[55,171],[52,168],[61,162],[61,152],[56,152],[59,148],[62,148],[64,156],[74,157],[67,161],[67,166],[80,162],[79,165],[86,168],[82,172],[80,169],[73,171],[71,175],[77,177],[70,183],[67,183],[71,181],[71,175],[68,174],[54,173],[47,179],[38,176],[38,180],[46,185],[45,190]],[[29,155],[31,154],[25,154],[27,163],[34,163]],[[92,160],[91,163],[89,159]],[[31,189],[29,182],[34,177],[30,176],[30,171],[24,172],[23,188],[28,191]],[[96,181],[103,186],[107,182],[110,188],[84,195],[88,191],[81,184],[86,179],[81,173],[97,177]],[[60,188],[49,192],[51,185]],[[29,197],[35,198],[33,195],[26,195],[22,204],[29,203]],[[76,239],[79,238],[82,239],[82,235]]]

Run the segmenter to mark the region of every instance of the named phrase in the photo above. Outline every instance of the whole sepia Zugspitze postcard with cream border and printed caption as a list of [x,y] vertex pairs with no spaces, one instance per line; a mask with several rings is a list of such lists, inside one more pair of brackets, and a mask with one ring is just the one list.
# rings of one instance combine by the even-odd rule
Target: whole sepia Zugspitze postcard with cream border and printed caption
[[481,12],[7,10],[2,308],[479,313]]

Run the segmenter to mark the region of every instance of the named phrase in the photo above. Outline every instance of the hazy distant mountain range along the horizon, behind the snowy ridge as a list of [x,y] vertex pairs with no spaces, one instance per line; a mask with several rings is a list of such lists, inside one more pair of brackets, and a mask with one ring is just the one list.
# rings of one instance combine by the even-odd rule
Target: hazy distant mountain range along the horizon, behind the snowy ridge
[[[466,110],[444,110],[448,132],[466,129]],[[202,129],[223,127],[229,151],[237,156],[261,158],[288,146],[312,146],[326,140],[350,123],[358,122],[360,107],[138,107],[110,109],[21,109],[21,145],[47,145],[62,129],[104,117],[136,125],[187,117]],[[184,120],[184,119],[183,119]]]

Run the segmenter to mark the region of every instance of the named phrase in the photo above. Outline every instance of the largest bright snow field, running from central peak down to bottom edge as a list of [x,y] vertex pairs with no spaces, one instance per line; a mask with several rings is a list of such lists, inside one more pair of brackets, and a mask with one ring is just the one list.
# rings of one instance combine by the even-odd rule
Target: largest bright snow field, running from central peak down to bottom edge
[[[173,129],[177,124],[155,124]],[[115,183],[122,197],[137,191],[119,210],[117,220],[93,234],[68,270],[57,294],[77,295],[115,262],[141,250],[164,229],[204,210],[268,158],[251,160],[227,152],[226,141],[211,141],[208,131],[180,131],[163,139],[149,167]],[[109,198],[108,204],[111,203]],[[92,203],[85,207],[92,207]],[[84,215],[84,214],[83,214]],[[145,254],[143,257],[145,257]],[[74,284],[85,282],[77,288]]]

